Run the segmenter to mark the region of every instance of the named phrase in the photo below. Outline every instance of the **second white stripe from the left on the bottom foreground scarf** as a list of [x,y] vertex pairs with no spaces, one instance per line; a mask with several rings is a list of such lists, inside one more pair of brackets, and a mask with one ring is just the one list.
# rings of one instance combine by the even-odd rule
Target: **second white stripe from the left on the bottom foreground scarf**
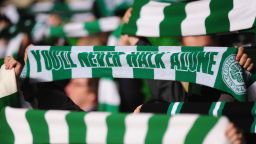
[[50,143],[68,143],[69,133],[66,115],[68,111],[50,110],[45,113]]

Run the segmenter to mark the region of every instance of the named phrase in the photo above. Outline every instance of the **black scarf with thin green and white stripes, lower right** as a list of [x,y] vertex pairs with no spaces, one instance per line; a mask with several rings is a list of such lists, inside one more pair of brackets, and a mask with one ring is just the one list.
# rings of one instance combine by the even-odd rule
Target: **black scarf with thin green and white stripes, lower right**
[[247,102],[172,102],[145,103],[142,112],[177,114],[201,114],[227,116],[246,133],[256,134],[256,103]]

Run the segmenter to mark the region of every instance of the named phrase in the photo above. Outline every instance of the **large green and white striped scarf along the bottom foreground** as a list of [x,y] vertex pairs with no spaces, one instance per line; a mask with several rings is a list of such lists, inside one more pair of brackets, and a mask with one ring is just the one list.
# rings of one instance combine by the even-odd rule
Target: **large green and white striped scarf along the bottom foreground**
[[[18,119],[18,120],[17,120]],[[229,143],[226,117],[39,111],[7,107],[0,143]],[[216,139],[218,141],[216,141]]]

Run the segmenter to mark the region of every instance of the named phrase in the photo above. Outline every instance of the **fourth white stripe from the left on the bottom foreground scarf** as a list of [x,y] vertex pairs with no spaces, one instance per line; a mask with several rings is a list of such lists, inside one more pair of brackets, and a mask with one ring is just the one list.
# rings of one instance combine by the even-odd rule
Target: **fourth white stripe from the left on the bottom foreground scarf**
[[144,144],[151,114],[130,114],[125,119],[125,144]]

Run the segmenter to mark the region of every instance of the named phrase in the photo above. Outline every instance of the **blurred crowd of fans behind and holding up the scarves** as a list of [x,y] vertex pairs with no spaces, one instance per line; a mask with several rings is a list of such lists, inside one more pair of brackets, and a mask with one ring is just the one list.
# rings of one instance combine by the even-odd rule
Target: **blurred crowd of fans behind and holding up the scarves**
[[[82,7],[81,4],[84,1],[87,1],[87,3],[85,2],[85,9],[75,9],[75,7],[71,9],[69,7],[76,2],[80,3],[80,7]],[[121,2],[122,4],[120,4]],[[81,37],[51,37],[47,35],[47,28],[62,26],[67,23],[93,22],[102,17],[110,16],[119,17],[121,19],[120,25],[128,23],[132,15],[132,0],[120,0],[119,5],[116,3],[118,2],[115,0],[109,0],[108,4],[111,5],[112,9],[106,13],[102,12],[100,0],[1,1],[0,58],[4,59],[6,69],[15,69],[16,76],[19,78],[27,58],[26,49],[30,45],[108,45],[111,32],[97,32]],[[18,43],[16,52],[9,50],[13,46],[13,42]],[[236,60],[239,61],[239,64],[247,71],[255,71],[254,43],[255,35],[253,34],[230,33],[158,38],[120,35],[115,45],[236,47],[238,48]],[[22,78],[18,80],[20,93],[25,100],[23,107],[43,110],[100,111],[98,94],[102,79],[81,78],[45,83],[30,83]],[[113,83],[120,98],[119,112],[147,112],[148,110],[142,110],[143,103],[235,101],[232,96],[222,91],[187,82],[113,79]],[[154,108],[150,112],[154,112]],[[227,129],[227,136],[233,143],[243,142],[242,133],[234,124],[230,124]]]

